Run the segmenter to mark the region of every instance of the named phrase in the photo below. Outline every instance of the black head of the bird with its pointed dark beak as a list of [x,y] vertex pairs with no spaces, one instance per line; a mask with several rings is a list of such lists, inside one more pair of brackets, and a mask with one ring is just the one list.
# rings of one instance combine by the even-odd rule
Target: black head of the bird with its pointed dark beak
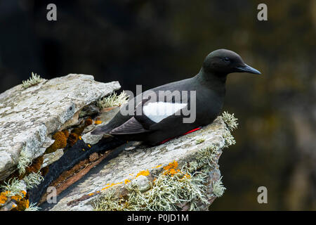
[[214,75],[228,75],[231,72],[249,72],[261,75],[261,72],[246,65],[237,53],[226,49],[218,49],[209,53],[204,60],[203,69],[204,72],[211,72]]

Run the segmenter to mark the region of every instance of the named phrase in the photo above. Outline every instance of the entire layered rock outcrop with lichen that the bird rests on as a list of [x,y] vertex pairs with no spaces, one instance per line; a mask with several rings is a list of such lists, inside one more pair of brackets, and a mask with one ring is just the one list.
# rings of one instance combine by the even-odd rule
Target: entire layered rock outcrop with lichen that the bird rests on
[[[117,98],[103,96],[119,89],[118,82],[103,84],[90,75],[37,78],[0,94],[0,210],[37,210],[36,205],[41,210],[207,210],[223,195],[218,159],[235,143],[233,115],[224,113],[209,126],[159,146],[125,143],[91,135],[118,112],[119,107],[102,107]],[[120,95],[115,105],[125,99]],[[46,202],[52,188],[57,203]]]

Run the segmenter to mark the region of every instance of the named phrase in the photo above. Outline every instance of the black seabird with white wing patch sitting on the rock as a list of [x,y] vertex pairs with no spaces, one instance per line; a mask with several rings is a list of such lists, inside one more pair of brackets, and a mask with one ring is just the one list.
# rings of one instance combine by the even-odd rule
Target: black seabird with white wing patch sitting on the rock
[[[124,141],[143,141],[155,146],[200,129],[211,124],[220,114],[225,82],[228,74],[233,72],[261,75],[261,72],[246,65],[234,51],[212,51],[204,59],[197,75],[144,91],[121,106],[126,110],[132,109],[133,113],[126,115],[120,110],[110,122],[97,127],[91,134],[110,134]],[[164,94],[163,99],[152,97],[159,96],[159,93]],[[179,99],[175,93],[184,94]],[[190,115],[192,121],[185,122],[190,118],[188,112],[195,115]]]

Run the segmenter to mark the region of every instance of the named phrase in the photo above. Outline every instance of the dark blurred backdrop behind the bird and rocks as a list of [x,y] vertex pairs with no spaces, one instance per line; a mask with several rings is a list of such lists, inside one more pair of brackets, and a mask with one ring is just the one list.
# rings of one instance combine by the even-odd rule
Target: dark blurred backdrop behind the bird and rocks
[[[260,3],[268,21],[257,20]],[[211,210],[316,210],[315,0],[0,0],[0,30],[0,92],[31,72],[145,90],[196,75],[213,50],[236,51],[262,75],[228,77],[223,110],[239,128]]]

